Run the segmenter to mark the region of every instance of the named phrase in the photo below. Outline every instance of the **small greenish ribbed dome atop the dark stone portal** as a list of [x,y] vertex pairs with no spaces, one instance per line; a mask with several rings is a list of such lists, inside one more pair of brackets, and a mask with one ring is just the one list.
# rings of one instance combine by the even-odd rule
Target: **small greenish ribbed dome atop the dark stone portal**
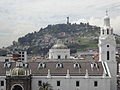
[[25,75],[25,69],[21,66],[15,67],[12,72],[12,75]]

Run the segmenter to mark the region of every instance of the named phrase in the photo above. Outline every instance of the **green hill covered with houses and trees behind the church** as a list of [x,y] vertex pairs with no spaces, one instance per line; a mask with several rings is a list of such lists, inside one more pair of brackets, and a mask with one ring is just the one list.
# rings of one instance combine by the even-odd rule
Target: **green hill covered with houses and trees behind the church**
[[[100,27],[89,25],[89,23],[48,25],[38,32],[20,37],[18,42],[14,41],[13,45],[7,49],[9,51],[27,50],[28,54],[46,54],[49,48],[60,39],[71,49],[71,53],[78,50],[96,50],[99,31]],[[120,43],[119,39],[117,42]]]

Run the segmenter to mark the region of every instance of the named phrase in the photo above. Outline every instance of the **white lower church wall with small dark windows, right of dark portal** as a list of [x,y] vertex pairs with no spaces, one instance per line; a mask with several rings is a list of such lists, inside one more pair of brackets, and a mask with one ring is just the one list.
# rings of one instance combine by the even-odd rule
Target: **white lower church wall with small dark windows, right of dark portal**
[[[46,77],[34,76],[32,80],[32,90],[39,90],[39,80],[51,84],[53,90],[110,90],[110,78],[96,77],[85,78],[84,76],[74,76],[67,79],[64,76],[56,76],[47,79]],[[57,86],[57,81],[60,81],[60,87]],[[79,87],[76,87],[76,81],[80,82]],[[97,87],[94,87],[94,81],[98,81]]]

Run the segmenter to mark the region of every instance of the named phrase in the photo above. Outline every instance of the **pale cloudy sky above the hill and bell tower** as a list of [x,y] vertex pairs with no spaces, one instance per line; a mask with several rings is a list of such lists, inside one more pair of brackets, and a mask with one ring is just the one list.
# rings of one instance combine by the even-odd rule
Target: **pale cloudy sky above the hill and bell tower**
[[89,22],[102,26],[105,11],[120,35],[119,0],[0,0],[0,47],[49,24]]

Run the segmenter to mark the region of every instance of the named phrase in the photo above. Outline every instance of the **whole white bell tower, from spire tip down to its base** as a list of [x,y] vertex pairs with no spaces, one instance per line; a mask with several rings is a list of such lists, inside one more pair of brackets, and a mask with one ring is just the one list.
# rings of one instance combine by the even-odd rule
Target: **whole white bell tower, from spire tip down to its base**
[[113,35],[113,28],[110,26],[110,18],[106,11],[106,16],[104,17],[104,26],[100,30],[99,37],[99,61],[106,62],[110,74],[110,90],[117,90],[117,62],[116,62],[116,41]]

